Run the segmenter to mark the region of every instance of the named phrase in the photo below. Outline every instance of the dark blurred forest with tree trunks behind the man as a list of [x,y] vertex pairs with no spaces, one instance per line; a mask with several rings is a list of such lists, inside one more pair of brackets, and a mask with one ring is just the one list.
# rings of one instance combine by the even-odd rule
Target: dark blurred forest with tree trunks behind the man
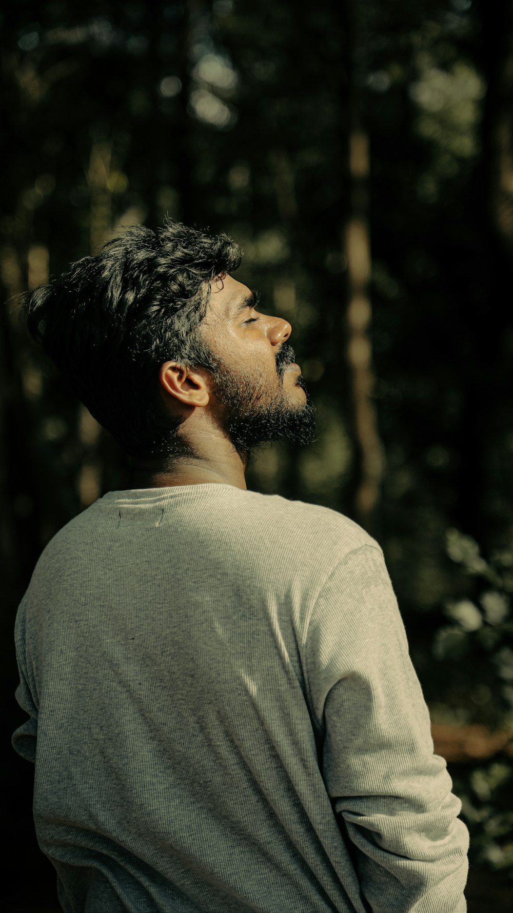
[[469,911],[509,909],[513,0],[7,0],[1,19],[4,908],[58,909],[9,746],[17,603],[54,533],[126,484],[18,296],[169,214],[233,236],[237,278],[293,325],[319,441],[256,453],[248,487],[381,541],[471,832]]

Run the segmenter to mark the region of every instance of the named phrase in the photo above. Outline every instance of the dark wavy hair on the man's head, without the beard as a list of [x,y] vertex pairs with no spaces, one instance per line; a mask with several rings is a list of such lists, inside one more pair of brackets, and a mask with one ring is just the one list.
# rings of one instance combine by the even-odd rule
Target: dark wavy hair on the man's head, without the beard
[[91,415],[136,458],[173,456],[173,421],[158,395],[163,362],[219,368],[201,339],[210,280],[240,265],[226,235],[167,220],[131,226],[96,257],[26,294],[30,335]]

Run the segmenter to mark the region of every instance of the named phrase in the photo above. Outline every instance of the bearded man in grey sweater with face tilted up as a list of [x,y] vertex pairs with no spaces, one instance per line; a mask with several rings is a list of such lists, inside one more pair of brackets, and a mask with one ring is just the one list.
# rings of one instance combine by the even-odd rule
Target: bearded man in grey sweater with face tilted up
[[66,913],[461,913],[467,832],[382,550],[247,491],[315,431],[226,236],[141,226],[26,302],[131,459],[16,619],[37,839]]

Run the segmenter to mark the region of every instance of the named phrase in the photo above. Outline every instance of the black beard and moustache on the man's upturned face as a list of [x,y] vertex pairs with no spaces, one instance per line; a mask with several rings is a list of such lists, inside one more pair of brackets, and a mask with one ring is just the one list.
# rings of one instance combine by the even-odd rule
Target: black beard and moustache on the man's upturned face
[[225,429],[238,453],[249,456],[251,450],[287,438],[305,446],[316,439],[317,410],[310,403],[304,378],[296,384],[307,394],[307,402],[292,401],[283,387],[285,366],[295,361],[294,351],[284,344],[277,356],[277,385],[261,375],[240,376],[225,367],[215,372],[213,393],[225,406]]

